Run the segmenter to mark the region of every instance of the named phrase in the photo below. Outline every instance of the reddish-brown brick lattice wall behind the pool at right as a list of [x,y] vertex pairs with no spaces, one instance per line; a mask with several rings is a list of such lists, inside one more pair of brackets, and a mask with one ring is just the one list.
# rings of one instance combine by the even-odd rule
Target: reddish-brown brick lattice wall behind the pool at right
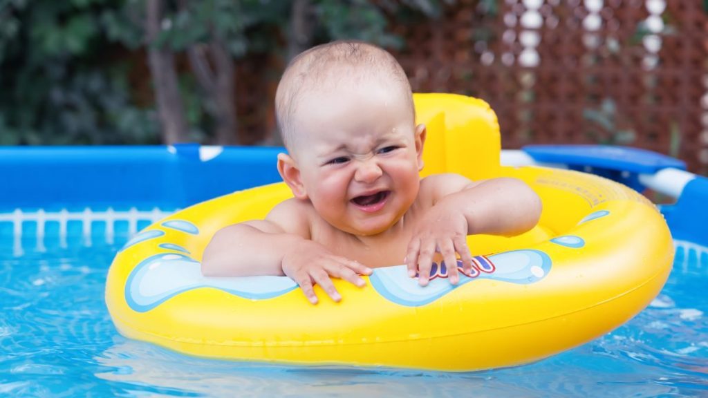
[[401,25],[414,91],[491,103],[507,148],[632,144],[708,171],[708,14],[693,0],[458,0]]

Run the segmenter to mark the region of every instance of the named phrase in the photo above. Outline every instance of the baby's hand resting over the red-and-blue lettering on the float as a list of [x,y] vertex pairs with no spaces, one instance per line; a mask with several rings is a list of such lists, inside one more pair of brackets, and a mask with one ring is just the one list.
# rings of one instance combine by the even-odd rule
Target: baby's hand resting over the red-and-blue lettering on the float
[[464,271],[472,272],[472,256],[467,248],[467,219],[462,212],[440,204],[433,206],[413,232],[408,245],[406,266],[411,278],[418,274],[418,283],[428,285],[433,256],[438,252],[445,261],[447,275],[453,285],[459,281],[457,257]]

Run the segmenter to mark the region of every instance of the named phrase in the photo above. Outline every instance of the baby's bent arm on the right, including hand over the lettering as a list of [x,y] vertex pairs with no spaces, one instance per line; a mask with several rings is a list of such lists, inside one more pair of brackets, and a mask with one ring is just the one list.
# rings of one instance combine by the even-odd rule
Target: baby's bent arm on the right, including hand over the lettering
[[[446,264],[457,263],[457,252],[463,268],[471,271],[467,235],[520,234],[534,227],[541,215],[538,195],[516,178],[474,183],[456,174],[441,174],[421,182],[421,195],[428,195],[422,199],[433,206],[418,222],[406,256],[409,274],[417,272],[421,285],[428,284],[436,251]],[[457,283],[457,267],[447,267],[447,272],[450,282]]]

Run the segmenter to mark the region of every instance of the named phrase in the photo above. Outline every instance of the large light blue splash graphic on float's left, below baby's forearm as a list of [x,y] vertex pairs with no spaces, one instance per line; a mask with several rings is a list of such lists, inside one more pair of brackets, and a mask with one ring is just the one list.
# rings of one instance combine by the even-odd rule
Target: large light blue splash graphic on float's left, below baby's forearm
[[216,288],[248,299],[278,297],[297,288],[287,276],[206,278],[200,263],[183,254],[156,254],[144,259],[125,283],[125,300],[137,312],[147,312],[181,292]]

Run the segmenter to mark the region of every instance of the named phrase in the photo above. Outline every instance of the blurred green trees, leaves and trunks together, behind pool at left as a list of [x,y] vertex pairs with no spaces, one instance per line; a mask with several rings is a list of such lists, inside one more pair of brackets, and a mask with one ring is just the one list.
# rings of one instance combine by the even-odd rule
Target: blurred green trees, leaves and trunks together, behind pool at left
[[[339,38],[400,48],[404,42],[389,21],[435,18],[440,6],[435,0],[0,0],[0,144],[244,142],[234,98],[240,60],[269,55],[282,65]],[[271,132],[257,136],[277,143]]]

